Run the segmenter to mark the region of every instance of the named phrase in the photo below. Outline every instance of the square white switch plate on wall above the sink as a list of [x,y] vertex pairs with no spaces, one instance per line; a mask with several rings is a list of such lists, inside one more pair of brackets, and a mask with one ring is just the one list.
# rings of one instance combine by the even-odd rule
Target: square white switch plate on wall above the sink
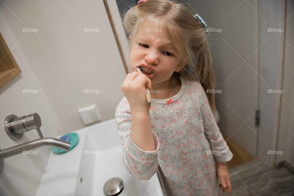
[[101,120],[96,105],[91,105],[89,107],[79,109],[78,111],[86,125]]

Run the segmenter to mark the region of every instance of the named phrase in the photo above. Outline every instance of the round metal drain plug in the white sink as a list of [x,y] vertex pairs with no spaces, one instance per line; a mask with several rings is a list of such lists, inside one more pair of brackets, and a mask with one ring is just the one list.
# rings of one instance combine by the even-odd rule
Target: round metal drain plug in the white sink
[[123,180],[119,177],[114,177],[104,184],[103,191],[107,196],[119,195],[123,190]]

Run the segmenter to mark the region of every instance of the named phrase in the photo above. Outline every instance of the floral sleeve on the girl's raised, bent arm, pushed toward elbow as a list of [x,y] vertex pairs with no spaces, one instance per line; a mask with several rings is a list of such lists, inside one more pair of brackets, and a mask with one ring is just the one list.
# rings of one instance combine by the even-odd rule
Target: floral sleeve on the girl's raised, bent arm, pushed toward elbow
[[156,150],[145,151],[138,147],[130,138],[131,114],[126,98],[123,98],[115,109],[115,120],[123,148],[123,164],[135,179],[148,180],[158,167],[159,139],[153,133]]

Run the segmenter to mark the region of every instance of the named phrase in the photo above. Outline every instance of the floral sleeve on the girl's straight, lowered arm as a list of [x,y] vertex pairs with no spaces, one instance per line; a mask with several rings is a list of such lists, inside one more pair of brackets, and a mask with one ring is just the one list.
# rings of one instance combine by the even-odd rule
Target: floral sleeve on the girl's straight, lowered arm
[[[201,86],[201,84],[199,83]],[[229,149],[227,142],[224,140],[223,136],[220,133],[220,129],[217,126],[217,122],[213,117],[213,113],[210,109],[209,102],[203,87],[201,86],[201,96],[199,96],[199,104],[202,119],[203,119],[203,127],[204,133],[209,140],[210,147],[212,150],[212,154],[214,159],[217,162],[228,162],[232,159],[233,153]]]

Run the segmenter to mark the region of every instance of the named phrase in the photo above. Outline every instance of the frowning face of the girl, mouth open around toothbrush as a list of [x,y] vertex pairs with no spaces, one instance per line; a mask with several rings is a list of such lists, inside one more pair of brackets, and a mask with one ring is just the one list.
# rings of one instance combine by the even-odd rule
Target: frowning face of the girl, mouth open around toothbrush
[[[152,83],[161,83],[171,78],[173,72],[179,72],[183,66],[178,66],[181,58],[178,50],[168,39],[163,29],[148,21],[138,28],[136,37],[130,49],[130,68],[141,71]],[[130,40],[131,42],[131,40]]]

